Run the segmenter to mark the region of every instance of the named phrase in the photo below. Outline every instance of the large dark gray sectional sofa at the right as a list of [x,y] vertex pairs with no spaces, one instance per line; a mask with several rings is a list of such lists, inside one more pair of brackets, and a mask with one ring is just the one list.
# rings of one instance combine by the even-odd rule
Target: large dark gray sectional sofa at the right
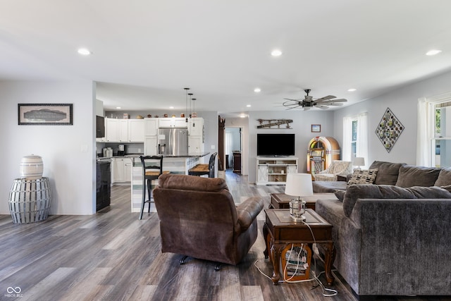
[[451,295],[451,168],[375,161],[374,184],[319,199],[333,224],[333,265],[361,299]]

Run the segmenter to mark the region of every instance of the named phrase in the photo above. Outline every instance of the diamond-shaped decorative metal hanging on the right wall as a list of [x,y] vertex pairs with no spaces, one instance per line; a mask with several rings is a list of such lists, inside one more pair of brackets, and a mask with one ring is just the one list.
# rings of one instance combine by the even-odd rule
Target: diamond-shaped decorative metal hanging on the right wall
[[382,145],[385,147],[387,152],[390,152],[403,130],[404,125],[402,125],[401,121],[396,118],[390,108],[387,108],[385,113],[383,113],[375,133],[379,140],[381,140]]

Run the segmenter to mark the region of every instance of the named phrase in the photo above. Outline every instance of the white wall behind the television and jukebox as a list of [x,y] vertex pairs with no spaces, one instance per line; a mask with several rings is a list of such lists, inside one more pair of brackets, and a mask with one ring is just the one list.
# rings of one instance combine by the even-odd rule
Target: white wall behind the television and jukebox
[[[258,119],[292,119],[290,129],[283,126],[271,129],[258,129]],[[311,133],[311,125],[320,124],[321,133]],[[227,122],[226,122],[226,126]],[[256,179],[256,158],[257,158],[257,133],[294,133],[296,134],[296,154],[299,158],[297,171],[299,173],[307,172],[307,149],[309,141],[316,136],[333,137],[333,111],[252,111],[249,112],[249,182],[255,182]]]

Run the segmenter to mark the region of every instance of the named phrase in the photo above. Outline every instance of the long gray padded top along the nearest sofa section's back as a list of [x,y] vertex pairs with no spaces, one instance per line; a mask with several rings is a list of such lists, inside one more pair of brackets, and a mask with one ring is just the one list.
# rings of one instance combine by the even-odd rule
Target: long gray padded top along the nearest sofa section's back
[[451,192],[437,186],[401,188],[393,185],[349,185],[343,199],[346,216],[351,216],[357,199],[451,199]]

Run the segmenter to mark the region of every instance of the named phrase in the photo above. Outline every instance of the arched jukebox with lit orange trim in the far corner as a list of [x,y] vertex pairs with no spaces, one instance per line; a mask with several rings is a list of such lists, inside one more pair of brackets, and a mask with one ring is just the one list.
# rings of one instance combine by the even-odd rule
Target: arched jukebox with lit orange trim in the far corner
[[307,151],[307,172],[314,175],[328,168],[333,160],[340,160],[340,147],[333,137],[314,137]]

